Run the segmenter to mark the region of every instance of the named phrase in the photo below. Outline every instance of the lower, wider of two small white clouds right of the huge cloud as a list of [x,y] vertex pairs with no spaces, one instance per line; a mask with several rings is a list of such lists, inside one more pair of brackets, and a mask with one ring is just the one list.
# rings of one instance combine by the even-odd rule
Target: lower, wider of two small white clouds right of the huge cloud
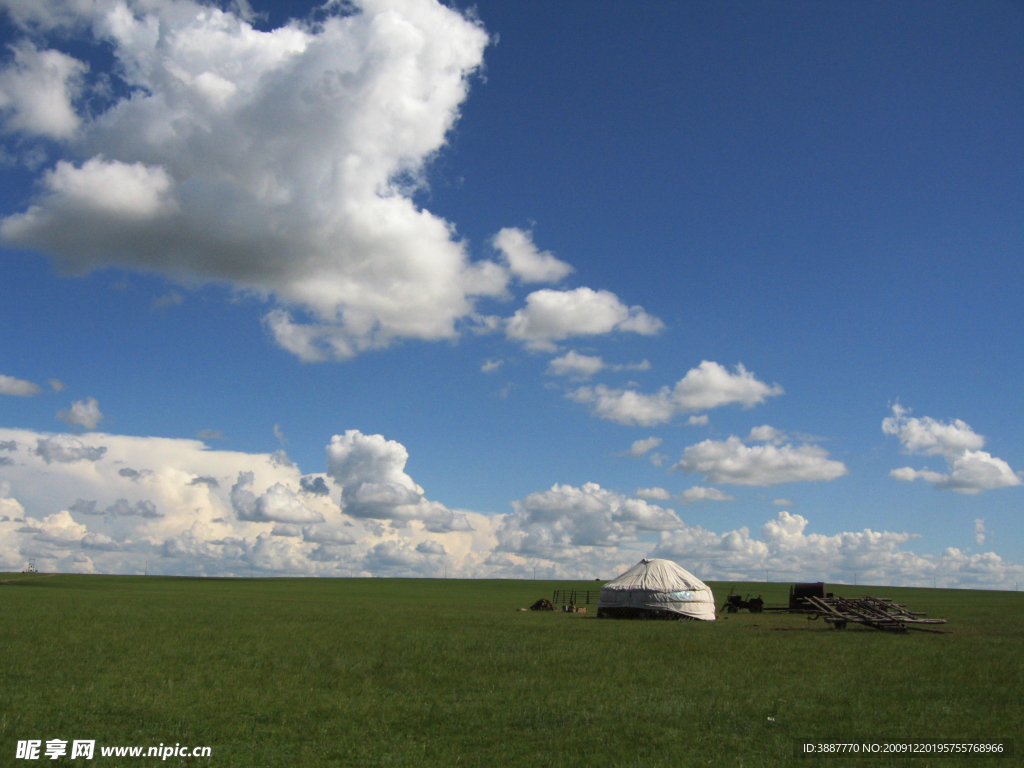
[[575,336],[595,336],[612,331],[652,336],[665,324],[643,307],[628,307],[610,291],[577,288],[571,291],[542,289],[526,297],[526,306],[516,310],[505,326],[506,335],[528,349],[553,352],[555,342]]

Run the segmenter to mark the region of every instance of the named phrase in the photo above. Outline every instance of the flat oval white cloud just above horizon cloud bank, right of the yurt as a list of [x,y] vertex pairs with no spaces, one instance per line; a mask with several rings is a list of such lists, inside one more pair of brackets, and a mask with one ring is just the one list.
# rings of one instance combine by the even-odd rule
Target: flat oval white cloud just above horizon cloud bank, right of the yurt
[[848,474],[843,462],[828,459],[828,452],[817,445],[744,445],[734,435],[689,445],[673,469],[700,472],[709,482],[733,485],[835,480]]

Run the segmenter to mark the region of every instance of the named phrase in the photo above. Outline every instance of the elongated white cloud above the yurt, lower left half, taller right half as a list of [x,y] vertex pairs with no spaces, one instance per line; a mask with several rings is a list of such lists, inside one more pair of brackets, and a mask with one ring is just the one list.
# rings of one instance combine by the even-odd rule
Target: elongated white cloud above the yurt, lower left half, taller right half
[[[734,373],[718,362],[702,360],[690,369],[676,385],[662,387],[654,394],[644,394],[634,389],[610,389],[604,385],[580,387],[568,393],[577,402],[594,406],[594,415],[620,424],[652,426],[665,424],[677,414],[705,411],[738,402],[753,408],[767,397],[782,394],[782,387],[759,381],[753,373],[737,365]],[[700,424],[705,421],[692,421]]]

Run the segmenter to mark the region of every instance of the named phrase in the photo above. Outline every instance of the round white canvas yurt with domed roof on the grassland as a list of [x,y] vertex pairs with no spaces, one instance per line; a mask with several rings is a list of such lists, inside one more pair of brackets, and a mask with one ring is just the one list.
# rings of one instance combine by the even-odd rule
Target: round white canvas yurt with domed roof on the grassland
[[597,615],[715,621],[708,585],[672,560],[641,560],[601,588]]

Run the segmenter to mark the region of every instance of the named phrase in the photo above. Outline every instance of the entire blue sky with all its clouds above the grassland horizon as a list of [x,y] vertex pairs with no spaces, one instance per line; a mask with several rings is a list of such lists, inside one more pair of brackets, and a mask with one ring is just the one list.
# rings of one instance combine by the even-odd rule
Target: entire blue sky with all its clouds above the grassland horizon
[[2,5],[0,566],[1024,582],[1019,4]]

